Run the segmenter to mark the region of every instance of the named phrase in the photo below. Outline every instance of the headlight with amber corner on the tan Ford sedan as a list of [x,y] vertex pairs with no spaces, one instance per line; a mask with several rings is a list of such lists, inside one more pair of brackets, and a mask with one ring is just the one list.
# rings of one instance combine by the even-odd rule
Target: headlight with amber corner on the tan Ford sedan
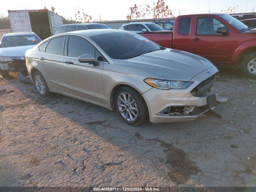
[[193,83],[190,81],[160,80],[152,78],[146,78],[144,79],[144,82],[158,89],[186,89]]

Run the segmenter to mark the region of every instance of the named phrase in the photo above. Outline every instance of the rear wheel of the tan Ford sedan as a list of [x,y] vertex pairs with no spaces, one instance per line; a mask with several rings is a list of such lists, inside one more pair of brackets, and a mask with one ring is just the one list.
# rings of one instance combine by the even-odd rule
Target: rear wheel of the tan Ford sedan
[[46,84],[46,81],[44,80],[44,77],[39,71],[36,71],[34,73],[33,80],[36,90],[41,96],[47,97],[51,95],[51,92],[49,91],[49,88]]

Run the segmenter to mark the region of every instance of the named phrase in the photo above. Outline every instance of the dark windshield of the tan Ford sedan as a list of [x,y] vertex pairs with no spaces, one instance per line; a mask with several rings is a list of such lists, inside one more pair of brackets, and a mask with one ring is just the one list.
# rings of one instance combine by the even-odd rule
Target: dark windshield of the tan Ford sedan
[[129,59],[163,49],[158,44],[131,32],[114,32],[90,37],[113,59]]

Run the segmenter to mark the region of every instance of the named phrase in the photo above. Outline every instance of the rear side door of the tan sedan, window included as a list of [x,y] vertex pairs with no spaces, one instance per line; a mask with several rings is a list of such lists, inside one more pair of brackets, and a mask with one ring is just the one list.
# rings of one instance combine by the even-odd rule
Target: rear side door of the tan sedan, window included
[[64,68],[64,42],[66,37],[61,36],[51,39],[46,47],[39,47],[40,72],[44,76],[50,89],[66,92],[67,79]]

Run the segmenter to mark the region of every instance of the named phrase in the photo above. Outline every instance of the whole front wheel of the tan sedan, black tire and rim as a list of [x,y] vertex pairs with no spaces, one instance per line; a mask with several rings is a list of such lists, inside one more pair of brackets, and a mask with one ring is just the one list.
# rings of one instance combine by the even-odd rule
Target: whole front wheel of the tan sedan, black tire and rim
[[121,119],[128,125],[138,126],[148,121],[146,102],[135,89],[129,86],[117,90],[115,107]]

